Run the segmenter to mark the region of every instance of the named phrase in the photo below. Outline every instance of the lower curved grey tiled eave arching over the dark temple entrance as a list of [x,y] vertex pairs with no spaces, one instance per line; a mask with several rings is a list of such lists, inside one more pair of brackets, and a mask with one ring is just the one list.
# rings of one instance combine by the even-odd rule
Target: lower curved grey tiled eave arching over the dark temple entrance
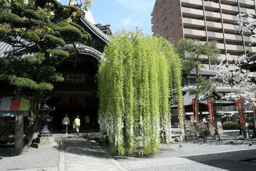
[[[69,49],[73,49],[74,46],[73,44],[68,44],[68,45],[65,45],[63,47],[58,47],[56,49],[61,49],[61,50],[69,50]],[[85,46],[83,44],[76,44],[76,48],[78,48],[78,50],[80,52],[83,52],[85,54],[90,54],[90,55],[93,55],[94,57],[96,57],[97,60],[101,60],[102,59],[102,53],[97,51],[96,49],[94,48],[91,48],[89,46]]]

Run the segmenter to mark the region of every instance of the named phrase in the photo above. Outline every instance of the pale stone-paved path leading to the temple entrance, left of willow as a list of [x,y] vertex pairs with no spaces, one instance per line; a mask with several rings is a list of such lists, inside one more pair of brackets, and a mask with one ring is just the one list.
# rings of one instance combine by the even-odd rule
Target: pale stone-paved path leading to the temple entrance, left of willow
[[111,156],[110,149],[94,140],[71,136],[61,141],[60,171],[126,170]]

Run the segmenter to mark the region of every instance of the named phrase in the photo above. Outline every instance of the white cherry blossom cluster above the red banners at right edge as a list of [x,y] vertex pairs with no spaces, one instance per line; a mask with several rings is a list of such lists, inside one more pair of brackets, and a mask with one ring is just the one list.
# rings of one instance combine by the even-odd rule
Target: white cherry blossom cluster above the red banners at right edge
[[[241,56],[243,60],[245,56]],[[239,67],[239,61],[233,64],[223,63],[217,65],[218,74],[212,77],[217,86],[229,87],[237,92],[226,94],[226,99],[243,99],[245,103],[256,104],[256,72],[250,72]]]

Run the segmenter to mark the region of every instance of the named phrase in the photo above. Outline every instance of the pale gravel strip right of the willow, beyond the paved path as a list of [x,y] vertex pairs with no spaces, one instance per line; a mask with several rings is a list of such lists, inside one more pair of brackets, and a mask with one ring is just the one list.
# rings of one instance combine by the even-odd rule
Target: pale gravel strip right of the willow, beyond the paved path
[[239,140],[239,138],[242,138],[242,136],[238,136],[238,134],[239,131],[229,131],[224,133],[225,137],[221,137],[221,141],[218,141],[217,139],[209,139],[206,143],[198,142],[197,140],[195,141],[195,143],[193,143],[193,141],[191,140],[188,142],[183,142],[181,144],[182,147],[180,147],[179,142],[174,142],[169,146],[167,146],[166,144],[162,144],[160,151],[152,157],[123,157],[123,160],[145,160],[148,158],[183,157],[198,154],[221,153],[225,151],[256,149],[256,139]]

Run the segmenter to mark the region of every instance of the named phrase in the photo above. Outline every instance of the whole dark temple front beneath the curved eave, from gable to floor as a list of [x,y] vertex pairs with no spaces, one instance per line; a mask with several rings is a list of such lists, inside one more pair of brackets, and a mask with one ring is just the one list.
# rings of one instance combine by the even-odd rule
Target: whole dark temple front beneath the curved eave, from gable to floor
[[[52,122],[49,129],[62,131],[62,119],[65,114],[70,118],[69,130],[78,115],[81,122],[80,131],[99,130],[97,98],[97,71],[99,61],[89,54],[78,54],[76,60],[64,61],[56,70],[63,74],[64,81],[55,83],[54,89],[48,92],[47,105],[55,107],[51,112]],[[87,116],[87,120],[85,117]]]

